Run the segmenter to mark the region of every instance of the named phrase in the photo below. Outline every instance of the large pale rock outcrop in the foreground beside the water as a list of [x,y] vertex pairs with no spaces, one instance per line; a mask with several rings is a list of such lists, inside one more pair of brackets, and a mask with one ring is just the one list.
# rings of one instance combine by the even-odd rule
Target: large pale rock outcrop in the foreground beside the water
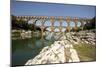
[[34,59],[25,65],[79,62],[80,59],[73,45],[67,40],[55,41],[51,46],[44,47]]

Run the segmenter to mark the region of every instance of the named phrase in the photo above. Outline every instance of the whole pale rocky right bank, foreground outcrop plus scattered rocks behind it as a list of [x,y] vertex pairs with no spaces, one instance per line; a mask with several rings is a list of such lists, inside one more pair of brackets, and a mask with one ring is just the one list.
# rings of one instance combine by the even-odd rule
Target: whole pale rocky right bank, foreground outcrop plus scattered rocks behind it
[[95,30],[51,33],[46,39],[53,39],[55,42],[50,46],[44,47],[35,58],[28,60],[25,65],[80,62],[78,53],[73,45],[80,43],[96,44]]

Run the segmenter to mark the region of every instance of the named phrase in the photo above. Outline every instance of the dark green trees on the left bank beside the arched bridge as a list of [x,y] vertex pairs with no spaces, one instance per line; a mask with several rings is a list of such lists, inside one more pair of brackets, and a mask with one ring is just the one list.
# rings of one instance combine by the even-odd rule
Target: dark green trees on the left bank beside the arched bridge
[[11,16],[11,25],[12,29],[24,29],[24,30],[41,30],[39,27],[36,27],[34,24],[28,24],[25,20],[17,20],[15,16]]

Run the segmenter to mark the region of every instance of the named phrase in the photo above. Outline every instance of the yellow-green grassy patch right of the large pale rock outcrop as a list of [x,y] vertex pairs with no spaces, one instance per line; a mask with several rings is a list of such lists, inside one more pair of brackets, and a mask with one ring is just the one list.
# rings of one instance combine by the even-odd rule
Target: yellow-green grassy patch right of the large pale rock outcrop
[[96,61],[96,46],[91,44],[73,45],[76,49],[80,61]]

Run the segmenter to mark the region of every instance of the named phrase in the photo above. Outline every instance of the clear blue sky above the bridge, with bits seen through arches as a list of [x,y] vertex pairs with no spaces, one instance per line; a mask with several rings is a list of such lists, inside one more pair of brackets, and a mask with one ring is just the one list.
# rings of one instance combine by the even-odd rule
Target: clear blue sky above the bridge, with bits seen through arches
[[[87,17],[96,16],[96,7],[87,5],[72,4],[51,4],[39,2],[20,2],[12,1],[11,14],[15,16],[71,16],[71,17]],[[48,21],[49,22],[49,21]],[[47,24],[48,25],[48,24]],[[59,25],[56,21],[55,25]],[[63,24],[67,25],[67,24]],[[71,26],[75,24],[71,23]],[[80,25],[80,24],[78,24]]]

